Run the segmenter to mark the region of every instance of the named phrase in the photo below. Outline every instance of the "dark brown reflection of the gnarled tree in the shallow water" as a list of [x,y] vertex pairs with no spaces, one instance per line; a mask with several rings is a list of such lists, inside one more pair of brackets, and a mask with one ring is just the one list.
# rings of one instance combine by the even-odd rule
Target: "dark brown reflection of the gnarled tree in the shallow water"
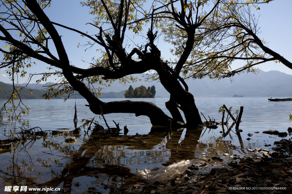
[[[230,130],[224,135],[230,134]],[[42,153],[51,157],[41,156],[36,160],[42,168],[49,169],[49,173],[36,174],[37,172],[34,170],[35,173],[28,174],[29,169],[36,169],[37,166],[31,158],[28,164],[23,160],[21,165],[18,165],[17,162],[15,165],[13,160],[9,170],[4,172],[1,169],[0,173],[3,174],[1,177],[5,179],[5,183],[14,184],[20,180],[15,177],[20,177],[27,182],[27,185],[63,186],[69,188],[67,192],[70,192],[76,187],[73,184],[77,177],[94,177],[106,173],[108,184],[113,184],[116,180],[121,179],[123,182],[131,182],[133,179],[137,179],[133,174],[135,169],[131,168],[131,164],[134,163],[148,165],[155,163],[154,161],[174,162],[181,159],[198,159],[201,156],[196,153],[200,149],[204,152],[208,150],[207,152],[211,153],[211,156],[218,156],[219,152],[232,154],[232,151],[228,152],[228,150],[237,149],[230,141],[223,141],[220,138],[213,143],[204,144],[199,141],[203,131],[196,131],[197,133],[187,130],[185,134],[182,131],[173,131],[166,137],[160,132],[134,136],[119,136],[118,134],[91,134],[88,136],[85,134],[79,137],[85,142],[79,149],[74,147],[74,144],[59,143],[58,137],[62,136],[54,136],[50,140],[44,139],[42,142],[42,146],[49,150]],[[14,154],[29,149],[33,143],[15,145],[13,159]],[[29,154],[27,155],[29,156]],[[26,168],[25,172],[24,168]],[[40,179],[37,181],[37,178]],[[50,178],[50,180],[46,178]]]

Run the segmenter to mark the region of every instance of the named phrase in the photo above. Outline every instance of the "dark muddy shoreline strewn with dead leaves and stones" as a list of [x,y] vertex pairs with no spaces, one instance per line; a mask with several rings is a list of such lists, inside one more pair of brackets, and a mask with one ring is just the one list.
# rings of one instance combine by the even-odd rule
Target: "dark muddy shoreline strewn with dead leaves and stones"
[[292,188],[292,142],[282,139],[274,146],[269,152],[256,149],[249,150],[251,156],[235,155],[234,162],[209,173],[197,175],[205,164],[195,162],[169,182],[125,183],[111,193],[288,193]]

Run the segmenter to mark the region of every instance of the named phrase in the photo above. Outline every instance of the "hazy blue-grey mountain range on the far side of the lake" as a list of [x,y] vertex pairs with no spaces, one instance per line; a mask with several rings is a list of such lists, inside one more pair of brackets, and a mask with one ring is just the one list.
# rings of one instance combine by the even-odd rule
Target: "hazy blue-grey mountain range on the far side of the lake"
[[[141,78],[141,75],[137,75],[137,77]],[[243,95],[244,97],[292,97],[292,75],[279,71],[260,71],[258,75],[248,73],[235,75],[230,79],[225,78],[220,80],[212,80],[208,78],[195,79],[188,80],[186,83],[189,86],[189,91],[194,97],[232,97],[234,94]],[[3,84],[3,82],[0,82],[0,87],[5,89],[2,87]],[[49,82],[38,85],[29,84],[29,86],[30,88],[41,89],[45,88],[43,86],[48,86],[49,84],[52,85],[54,83]],[[104,88],[102,90],[102,95],[99,98],[124,98],[125,90],[128,90],[130,85],[132,85],[133,88],[141,85],[147,88],[148,86],[151,87],[154,85],[156,89],[156,97],[169,97],[169,93],[160,82],[137,81],[134,83],[128,83],[124,86],[116,81],[112,83],[110,87]],[[20,84],[20,86],[26,86],[26,84]],[[99,86],[96,85],[94,87]],[[39,95],[39,92],[41,94],[45,92],[45,90],[33,91],[33,94],[36,96]],[[29,94],[30,92],[28,91],[26,96],[30,96]],[[3,92],[0,92],[0,98],[3,99],[3,97],[6,99]],[[80,97],[81,96],[78,96],[78,98]]]

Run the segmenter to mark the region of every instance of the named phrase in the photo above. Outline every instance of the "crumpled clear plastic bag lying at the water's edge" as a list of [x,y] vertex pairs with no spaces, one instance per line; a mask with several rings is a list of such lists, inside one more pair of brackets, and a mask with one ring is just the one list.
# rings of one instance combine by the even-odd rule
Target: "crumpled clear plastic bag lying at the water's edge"
[[173,163],[166,167],[154,168],[151,170],[138,170],[136,171],[136,177],[140,179],[145,179],[149,183],[164,182],[166,180],[171,180],[173,177],[182,174],[190,166],[190,160],[180,161],[178,163]]

